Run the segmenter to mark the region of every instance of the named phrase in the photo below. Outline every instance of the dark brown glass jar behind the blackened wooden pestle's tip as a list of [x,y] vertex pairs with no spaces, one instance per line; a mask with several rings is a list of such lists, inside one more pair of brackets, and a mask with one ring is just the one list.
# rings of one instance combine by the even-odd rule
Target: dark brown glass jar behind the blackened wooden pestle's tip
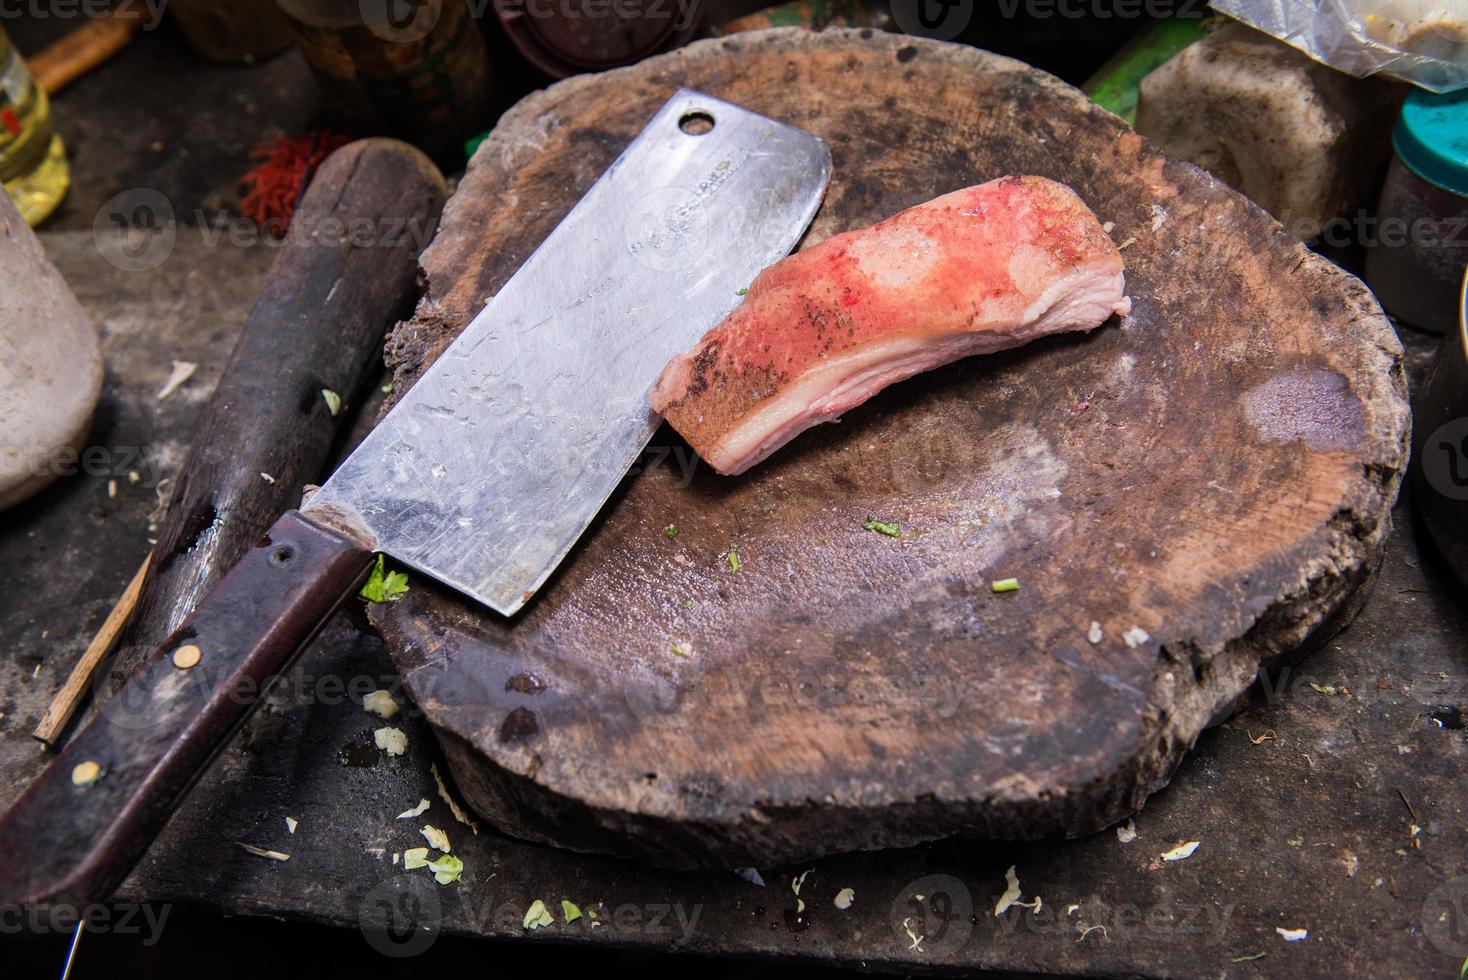
[[445,157],[493,122],[465,0],[276,0],[342,126]]

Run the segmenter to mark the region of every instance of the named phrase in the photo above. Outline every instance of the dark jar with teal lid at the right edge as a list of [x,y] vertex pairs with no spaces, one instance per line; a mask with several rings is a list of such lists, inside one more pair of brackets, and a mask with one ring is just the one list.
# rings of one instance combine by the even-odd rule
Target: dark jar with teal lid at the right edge
[[1392,148],[1365,280],[1400,323],[1445,333],[1468,267],[1468,91],[1414,88]]

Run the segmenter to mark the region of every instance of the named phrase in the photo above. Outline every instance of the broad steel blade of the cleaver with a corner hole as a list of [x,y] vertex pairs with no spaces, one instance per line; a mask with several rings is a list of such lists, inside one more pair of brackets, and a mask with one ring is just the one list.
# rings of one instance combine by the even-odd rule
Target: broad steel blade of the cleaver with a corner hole
[[683,89],[302,508],[509,616],[637,461],[664,365],[787,255],[816,136]]

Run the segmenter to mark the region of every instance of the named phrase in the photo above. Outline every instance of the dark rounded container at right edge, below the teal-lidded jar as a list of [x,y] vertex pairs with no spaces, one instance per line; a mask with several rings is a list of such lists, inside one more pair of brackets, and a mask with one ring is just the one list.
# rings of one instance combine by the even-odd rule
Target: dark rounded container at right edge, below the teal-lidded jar
[[1468,588],[1468,277],[1459,292],[1458,326],[1443,337],[1418,398],[1412,502]]

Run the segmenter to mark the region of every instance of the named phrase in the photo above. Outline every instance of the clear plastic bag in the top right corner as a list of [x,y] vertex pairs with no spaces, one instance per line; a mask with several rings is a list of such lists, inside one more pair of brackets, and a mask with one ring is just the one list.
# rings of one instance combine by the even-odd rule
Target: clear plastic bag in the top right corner
[[1214,0],[1213,9],[1358,78],[1468,87],[1468,0]]

